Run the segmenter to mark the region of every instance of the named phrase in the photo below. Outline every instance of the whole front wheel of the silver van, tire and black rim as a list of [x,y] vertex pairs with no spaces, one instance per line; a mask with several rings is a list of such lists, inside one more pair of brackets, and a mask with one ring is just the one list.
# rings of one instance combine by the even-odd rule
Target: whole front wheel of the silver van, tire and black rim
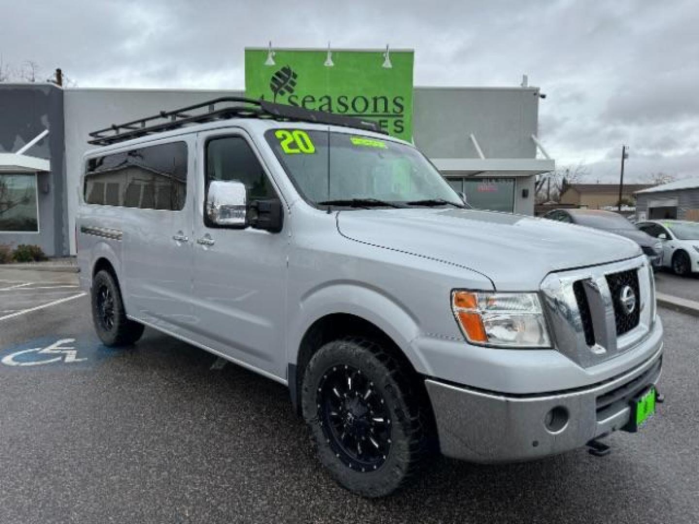
[[303,419],[317,456],[340,486],[364,497],[405,486],[435,451],[424,379],[395,351],[347,335],[323,344],[303,374]]

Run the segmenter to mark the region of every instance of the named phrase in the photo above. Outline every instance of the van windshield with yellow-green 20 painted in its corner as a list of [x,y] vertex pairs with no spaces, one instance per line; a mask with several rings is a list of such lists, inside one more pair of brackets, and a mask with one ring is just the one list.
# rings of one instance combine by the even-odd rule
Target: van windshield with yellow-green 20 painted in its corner
[[268,144],[314,205],[453,205],[459,195],[414,147],[368,136],[271,129]]

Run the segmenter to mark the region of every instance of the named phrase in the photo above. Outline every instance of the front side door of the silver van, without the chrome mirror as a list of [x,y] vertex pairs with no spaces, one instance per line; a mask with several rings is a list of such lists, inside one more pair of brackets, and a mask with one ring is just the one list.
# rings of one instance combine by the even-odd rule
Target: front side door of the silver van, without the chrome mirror
[[194,220],[195,329],[212,349],[285,377],[286,227],[280,233],[233,229],[207,224],[203,216],[212,180],[243,182],[248,204],[280,192],[243,131],[199,133],[197,143],[204,176]]

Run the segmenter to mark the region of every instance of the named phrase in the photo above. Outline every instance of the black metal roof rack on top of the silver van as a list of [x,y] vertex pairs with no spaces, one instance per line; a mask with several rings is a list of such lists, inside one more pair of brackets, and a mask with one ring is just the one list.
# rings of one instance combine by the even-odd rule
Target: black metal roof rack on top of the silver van
[[295,105],[268,102],[266,100],[245,99],[240,96],[223,96],[206,102],[189,105],[173,111],[161,111],[152,117],[145,117],[112,124],[104,129],[92,131],[92,140],[87,143],[94,145],[110,145],[131,138],[171,131],[187,124],[202,124],[213,120],[229,118],[269,118],[282,121],[313,122],[315,124],[331,124],[335,126],[354,127],[364,131],[387,134],[379,124],[370,120],[345,117],[331,112],[312,111]]

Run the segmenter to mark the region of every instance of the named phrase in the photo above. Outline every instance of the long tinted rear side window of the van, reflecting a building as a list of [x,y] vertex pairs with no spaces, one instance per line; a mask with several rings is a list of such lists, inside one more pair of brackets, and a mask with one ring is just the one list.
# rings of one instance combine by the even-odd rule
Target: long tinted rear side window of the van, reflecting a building
[[168,144],[89,159],[85,202],[179,211],[187,198],[187,144]]

